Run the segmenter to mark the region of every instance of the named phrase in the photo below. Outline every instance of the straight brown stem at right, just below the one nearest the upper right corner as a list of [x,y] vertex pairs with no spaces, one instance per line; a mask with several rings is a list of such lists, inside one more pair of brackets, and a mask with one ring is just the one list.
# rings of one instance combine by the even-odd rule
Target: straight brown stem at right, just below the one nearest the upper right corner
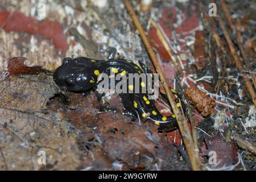
[[251,100],[254,103],[254,106],[256,107],[255,92],[254,92],[253,86],[251,85],[251,82],[247,78],[246,73],[242,72],[243,65],[242,65],[239,57],[236,54],[236,48],[234,47],[234,44],[232,43],[232,40],[230,39],[230,36],[228,34],[228,31],[226,30],[224,22],[222,21],[220,16],[218,18],[218,22],[220,23],[220,26],[221,26],[221,28],[223,30],[223,34],[225,36],[226,42],[228,43],[229,50],[230,50],[230,52],[231,52],[231,54],[233,56],[233,59],[234,59],[236,65],[237,65],[237,69],[241,73],[241,75],[243,77],[243,80],[245,80],[245,86],[246,86],[247,90],[249,91],[249,94],[250,94]]

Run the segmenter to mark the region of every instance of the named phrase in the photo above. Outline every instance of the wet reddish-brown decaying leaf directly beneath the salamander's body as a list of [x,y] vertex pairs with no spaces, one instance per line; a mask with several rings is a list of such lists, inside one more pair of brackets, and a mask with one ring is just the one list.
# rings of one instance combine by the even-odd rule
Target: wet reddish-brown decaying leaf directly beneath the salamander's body
[[[164,169],[174,169],[177,150],[170,147],[162,151],[168,142],[159,143],[158,126],[154,123],[147,121],[139,125],[118,110],[102,112],[94,93],[88,96],[67,94],[69,103],[66,106],[56,97],[48,107],[60,110],[73,126],[84,131],[77,142],[89,155],[85,156],[81,169],[106,169],[108,166],[112,166],[111,169],[117,166],[118,169],[152,169],[157,163],[164,164]],[[166,161],[167,156],[176,159]]]

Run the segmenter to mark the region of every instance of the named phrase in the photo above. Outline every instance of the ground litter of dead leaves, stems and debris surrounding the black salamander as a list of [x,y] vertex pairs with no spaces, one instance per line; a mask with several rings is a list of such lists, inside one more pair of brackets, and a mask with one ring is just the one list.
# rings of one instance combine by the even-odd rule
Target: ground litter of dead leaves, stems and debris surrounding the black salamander
[[[53,40],[15,27],[16,10],[40,24],[38,4],[1,1],[0,169],[255,170],[256,4],[218,1],[210,17],[209,3],[51,1],[44,19],[60,24],[64,35]],[[93,90],[57,88],[50,72],[63,57],[104,59],[111,47],[156,68],[179,129],[159,134],[150,121],[131,121],[119,96],[98,101]],[[168,86],[183,95],[184,114]],[[168,113],[167,103],[158,101]],[[38,164],[39,151],[46,165]]]

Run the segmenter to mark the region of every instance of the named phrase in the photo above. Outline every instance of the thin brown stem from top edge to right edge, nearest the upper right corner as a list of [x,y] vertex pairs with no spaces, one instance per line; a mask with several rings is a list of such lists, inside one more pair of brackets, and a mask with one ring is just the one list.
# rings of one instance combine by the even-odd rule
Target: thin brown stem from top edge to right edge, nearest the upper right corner
[[[220,2],[221,2],[221,8],[224,11],[226,19],[228,20],[229,27],[234,32],[235,26],[232,23],[232,18],[231,18],[231,15],[229,13],[228,7],[226,6],[226,2],[224,0],[221,0]],[[236,34],[237,34],[236,38],[237,38],[237,42],[238,42],[238,48],[241,51],[241,55],[242,55],[243,61],[245,61],[246,65],[247,65],[247,56],[245,54],[245,50],[242,47],[242,36],[241,36],[241,30],[240,30],[239,27],[237,27]],[[248,69],[248,71],[251,71],[249,68],[247,68],[247,69]],[[254,88],[256,89],[256,78],[255,78],[255,75],[253,73],[250,73],[250,76],[251,76],[251,78],[253,80]]]

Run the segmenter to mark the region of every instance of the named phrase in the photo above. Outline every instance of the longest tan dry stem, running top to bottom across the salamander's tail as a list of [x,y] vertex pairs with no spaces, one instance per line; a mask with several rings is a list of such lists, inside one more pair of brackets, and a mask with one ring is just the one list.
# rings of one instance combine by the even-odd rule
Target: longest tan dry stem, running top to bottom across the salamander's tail
[[128,10],[128,13],[131,16],[131,19],[133,20],[135,27],[137,28],[139,35],[141,35],[142,41],[148,51],[148,54],[151,57],[152,63],[154,64],[156,71],[159,73],[160,80],[162,81],[164,90],[166,91],[168,100],[170,101],[171,107],[174,110],[174,114],[176,115],[177,123],[179,125],[180,133],[183,137],[183,141],[185,144],[185,147],[188,152],[189,160],[191,162],[191,166],[193,170],[201,170],[200,166],[200,160],[199,159],[199,149],[198,147],[195,148],[192,140],[191,133],[189,131],[186,119],[184,117],[184,114],[181,113],[181,111],[177,108],[174,97],[172,92],[170,91],[170,88],[167,84],[166,78],[164,77],[163,71],[160,68],[158,61],[156,60],[155,53],[153,49],[151,48],[151,45],[149,41],[147,40],[146,34],[141,26],[141,23],[139,23],[139,20],[133,10],[133,7],[130,5],[129,1],[125,1],[126,9]]

